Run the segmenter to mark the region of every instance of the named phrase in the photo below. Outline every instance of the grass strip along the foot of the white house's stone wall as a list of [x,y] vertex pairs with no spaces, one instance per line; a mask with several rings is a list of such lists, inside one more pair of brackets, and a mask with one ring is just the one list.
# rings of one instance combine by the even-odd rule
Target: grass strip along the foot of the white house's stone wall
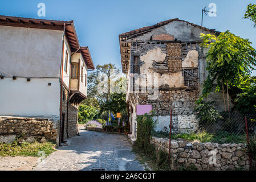
[[[18,144],[17,140],[13,143],[0,143],[0,156],[38,156],[38,152],[43,151],[48,156],[55,150],[54,142]],[[40,157],[40,156],[38,156]]]

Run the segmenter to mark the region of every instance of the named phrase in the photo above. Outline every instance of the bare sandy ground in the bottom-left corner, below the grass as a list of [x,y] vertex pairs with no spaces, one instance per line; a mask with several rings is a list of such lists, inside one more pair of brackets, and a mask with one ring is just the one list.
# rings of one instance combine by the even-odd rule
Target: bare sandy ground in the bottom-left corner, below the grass
[[39,160],[32,156],[0,157],[0,171],[31,171]]

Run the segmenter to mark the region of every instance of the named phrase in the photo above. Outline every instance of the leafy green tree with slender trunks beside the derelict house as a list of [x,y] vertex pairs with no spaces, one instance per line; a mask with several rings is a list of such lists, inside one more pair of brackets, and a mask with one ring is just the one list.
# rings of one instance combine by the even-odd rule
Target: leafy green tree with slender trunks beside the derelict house
[[[207,97],[216,85],[216,92],[222,88],[225,103],[224,86],[227,93],[227,110],[229,108],[229,88],[237,86],[241,88],[246,85],[252,70],[255,70],[256,51],[251,47],[248,39],[240,38],[229,31],[222,32],[217,38],[211,34],[201,34],[202,46],[209,48],[206,58],[206,70],[209,75],[203,85],[200,100]],[[198,100],[198,103],[200,102]]]

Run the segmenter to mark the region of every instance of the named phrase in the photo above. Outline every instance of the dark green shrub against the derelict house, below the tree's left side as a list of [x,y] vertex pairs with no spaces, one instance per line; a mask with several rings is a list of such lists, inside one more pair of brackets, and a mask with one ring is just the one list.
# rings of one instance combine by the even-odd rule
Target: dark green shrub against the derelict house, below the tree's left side
[[199,125],[214,123],[221,118],[220,113],[213,106],[214,104],[215,101],[205,102],[201,100],[198,102],[194,111],[197,112],[197,119],[200,119]]

